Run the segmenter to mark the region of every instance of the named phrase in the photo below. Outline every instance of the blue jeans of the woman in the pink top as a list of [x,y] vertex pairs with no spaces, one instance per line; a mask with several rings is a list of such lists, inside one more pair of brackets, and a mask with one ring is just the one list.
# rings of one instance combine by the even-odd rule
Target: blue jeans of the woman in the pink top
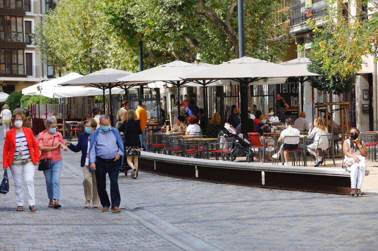
[[60,172],[62,171],[63,161],[51,161],[51,168],[44,170],[46,179],[47,196],[49,199],[60,197]]

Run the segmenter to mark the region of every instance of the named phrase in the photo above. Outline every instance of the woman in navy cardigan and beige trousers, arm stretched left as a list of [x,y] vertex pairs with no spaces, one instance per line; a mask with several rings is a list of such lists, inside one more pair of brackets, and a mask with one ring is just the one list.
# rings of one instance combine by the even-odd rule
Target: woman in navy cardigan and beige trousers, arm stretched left
[[[91,203],[91,200],[93,202],[93,207],[98,207],[98,204],[100,202],[100,199],[98,197],[97,192],[97,183],[96,183],[96,173],[91,172],[89,170],[89,141],[91,138],[91,133],[96,130],[97,122],[93,118],[89,118],[86,121],[84,121],[84,129],[85,132],[83,132],[80,137],[79,141],[77,142],[77,145],[72,144],[69,141],[65,141],[65,145],[70,148],[73,152],[77,153],[81,151],[81,167],[83,168],[84,173],[84,193],[85,193],[85,204],[84,207],[89,207],[89,204]],[[92,182],[91,182],[91,175],[92,175]]]

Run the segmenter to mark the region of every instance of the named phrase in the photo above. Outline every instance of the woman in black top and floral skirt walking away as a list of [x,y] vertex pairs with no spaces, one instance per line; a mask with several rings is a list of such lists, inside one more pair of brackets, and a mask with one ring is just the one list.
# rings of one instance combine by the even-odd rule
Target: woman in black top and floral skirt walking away
[[119,127],[119,131],[123,132],[124,148],[127,164],[132,168],[131,178],[138,177],[138,156],[140,156],[141,142],[139,135],[142,134],[141,127],[136,121],[136,113],[134,110],[127,112],[127,120]]

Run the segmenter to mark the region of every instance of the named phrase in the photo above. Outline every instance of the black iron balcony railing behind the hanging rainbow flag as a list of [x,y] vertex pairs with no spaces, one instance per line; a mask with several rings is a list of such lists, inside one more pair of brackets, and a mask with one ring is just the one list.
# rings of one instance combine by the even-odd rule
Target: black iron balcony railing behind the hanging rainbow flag
[[[312,17],[321,17],[327,13],[327,5],[325,0],[313,0],[312,1]],[[290,25],[303,23],[307,21],[309,17],[305,14],[305,1],[294,0],[290,6]]]

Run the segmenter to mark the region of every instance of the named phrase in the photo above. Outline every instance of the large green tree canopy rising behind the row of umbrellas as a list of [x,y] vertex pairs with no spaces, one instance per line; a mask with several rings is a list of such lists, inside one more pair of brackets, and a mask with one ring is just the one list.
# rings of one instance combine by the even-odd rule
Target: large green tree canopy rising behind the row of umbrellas
[[[288,39],[276,24],[280,0],[245,0],[246,55],[276,61]],[[221,63],[238,57],[237,1],[65,0],[36,29],[37,46],[57,70],[88,73],[138,69],[143,41],[146,68],[175,59]],[[270,46],[267,46],[270,44]]]

